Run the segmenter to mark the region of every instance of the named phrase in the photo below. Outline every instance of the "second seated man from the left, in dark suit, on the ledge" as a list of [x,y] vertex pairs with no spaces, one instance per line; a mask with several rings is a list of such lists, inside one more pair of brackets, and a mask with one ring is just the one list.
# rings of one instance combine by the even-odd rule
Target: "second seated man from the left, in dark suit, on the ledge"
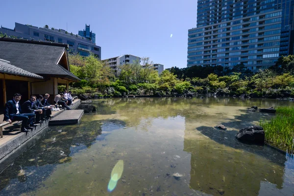
[[31,98],[25,101],[22,105],[22,110],[25,113],[32,113],[36,115],[35,123],[43,123],[43,111],[36,107],[36,96],[31,96]]

